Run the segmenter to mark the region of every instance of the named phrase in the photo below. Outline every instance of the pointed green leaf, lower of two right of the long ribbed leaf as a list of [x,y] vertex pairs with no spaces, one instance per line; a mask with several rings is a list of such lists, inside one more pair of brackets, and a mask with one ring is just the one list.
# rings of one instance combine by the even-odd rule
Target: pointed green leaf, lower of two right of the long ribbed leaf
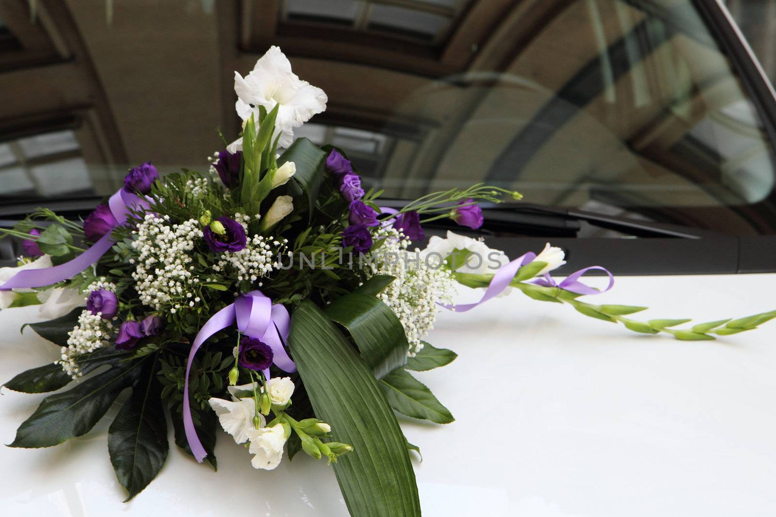
[[414,419],[449,424],[456,419],[440,403],[425,384],[412,377],[404,368],[392,371],[380,380],[391,407]]

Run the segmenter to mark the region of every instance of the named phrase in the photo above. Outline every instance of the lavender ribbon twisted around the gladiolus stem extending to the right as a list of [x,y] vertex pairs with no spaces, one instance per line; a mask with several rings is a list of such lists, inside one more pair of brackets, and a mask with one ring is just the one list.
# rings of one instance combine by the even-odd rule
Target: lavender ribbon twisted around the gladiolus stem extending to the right
[[[536,253],[529,251],[528,253],[525,253],[525,255],[522,255],[521,257],[512,260],[508,264],[501,266],[499,270],[496,271],[496,273],[493,275],[493,278],[490,280],[490,285],[488,285],[485,293],[483,294],[483,297],[480,298],[479,302],[465,303],[461,305],[439,305],[442,305],[442,307],[455,312],[466,312],[470,309],[473,309],[477,305],[487,302],[490,300],[490,298],[501,295],[501,293],[504,292],[504,289],[509,287],[509,284],[514,278],[514,275],[518,273],[518,270],[526,264],[530,264],[533,260],[535,260],[535,258]],[[580,282],[580,277],[586,274],[587,271],[592,270],[604,271],[608,275],[609,284],[603,291],[598,291],[598,289],[591,288],[589,285]],[[591,266],[580,269],[580,271],[574,271],[560,283],[557,283],[555,279],[549,275],[549,273],[545,273],[542,279],[534,281],[532,284],[541,285],[546,288],[561,288],[565,291],[571,291],[579,295],[600,295],[602,292],[608,291],[615,285],[615,277],[605,267]]]

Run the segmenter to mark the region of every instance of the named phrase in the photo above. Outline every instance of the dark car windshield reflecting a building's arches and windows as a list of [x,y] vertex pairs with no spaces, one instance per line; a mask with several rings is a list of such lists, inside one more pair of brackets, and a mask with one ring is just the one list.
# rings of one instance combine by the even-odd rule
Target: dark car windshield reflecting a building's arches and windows
[[296,136],[386,196],[484,181],[776,233],[766,123],[690,0],[54,4],[0,9],[2,204],[109,195],[146,160],[205,171],[240,130],[234,71],[277,44],[329,98]]

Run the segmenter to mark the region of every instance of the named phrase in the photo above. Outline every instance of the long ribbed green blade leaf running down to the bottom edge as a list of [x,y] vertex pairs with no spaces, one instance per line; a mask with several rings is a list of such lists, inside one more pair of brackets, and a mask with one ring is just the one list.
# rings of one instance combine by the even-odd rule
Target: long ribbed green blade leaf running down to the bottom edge
[[293,313],[288,344],[315,415],[331,425],[334,441],[354,447],[334,464],[350,515],[421,515],[407,440],[352,344],[309,300]]

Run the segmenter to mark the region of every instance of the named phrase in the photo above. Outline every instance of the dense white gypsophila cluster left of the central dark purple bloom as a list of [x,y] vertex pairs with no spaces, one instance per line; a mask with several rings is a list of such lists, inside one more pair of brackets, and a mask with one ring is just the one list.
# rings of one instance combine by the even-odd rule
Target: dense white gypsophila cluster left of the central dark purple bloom
[[169,215],[146,214],[133,236],[132,247],[138,257],[132,278],[137,282],[140,302],[156,310],[170,308],[172,313],[192,306],[189,298],[195,297],[199,278],[189,264],[196,240],[203,236],[199,222],[189,219],[170,224]]

